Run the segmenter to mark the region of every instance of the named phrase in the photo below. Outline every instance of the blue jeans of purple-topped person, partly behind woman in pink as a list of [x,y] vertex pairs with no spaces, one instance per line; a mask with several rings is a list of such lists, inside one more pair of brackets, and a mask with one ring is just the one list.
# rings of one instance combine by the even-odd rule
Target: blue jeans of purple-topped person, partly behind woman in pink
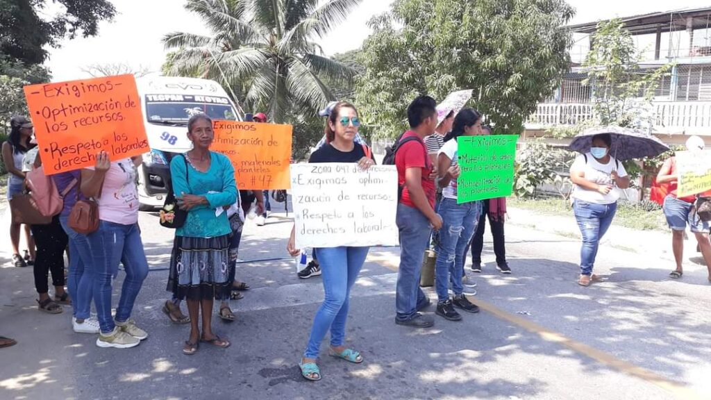
[[59,222],[69,236],[69,276],[67,289],[72,297],[73,315],[77,320],[86,320],[91,312],[94,298],[94,267],[87,237],[69,227],[68,216],[60,216]]

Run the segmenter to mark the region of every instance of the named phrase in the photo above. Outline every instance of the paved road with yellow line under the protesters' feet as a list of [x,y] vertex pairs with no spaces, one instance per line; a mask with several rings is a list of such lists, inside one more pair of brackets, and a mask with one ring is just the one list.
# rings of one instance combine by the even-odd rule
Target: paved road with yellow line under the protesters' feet
[[[348,320],[365,362],[322,352],[324,379],[311,383],[296,362],[321,278],[299,280],[290,258],[240,264],[252,290],[232,302],[237,322],[215,322],[232,347],[186,357],[188,327],[160,311],[172,232],[153,214],[140,222],[153,271],[134,317],[151,336],[134,349],[95,347],[70,330],[68,308],[38,312],[31,270],[0,268],[0,334],[20,342],[0,349],[0,399],[711,399],[711,286],[695,263],[671,281],[668,260],[604,246],[606,282],[581,288],[575,239],[510,225],[514,273],[496,271],[489,243],[474,298],[483,311],[412,330],[393,322],[398,250],[375,248]],[[290,224],[277,213],[247,225],[240,258],[284,256]]]

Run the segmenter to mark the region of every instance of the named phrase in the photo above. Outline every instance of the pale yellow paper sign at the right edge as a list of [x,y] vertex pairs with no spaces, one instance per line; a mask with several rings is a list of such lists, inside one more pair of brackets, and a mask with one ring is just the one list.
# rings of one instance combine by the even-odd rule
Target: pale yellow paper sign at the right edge
[[676,195],[693,196],[711,189],[711,151],[676,152]]

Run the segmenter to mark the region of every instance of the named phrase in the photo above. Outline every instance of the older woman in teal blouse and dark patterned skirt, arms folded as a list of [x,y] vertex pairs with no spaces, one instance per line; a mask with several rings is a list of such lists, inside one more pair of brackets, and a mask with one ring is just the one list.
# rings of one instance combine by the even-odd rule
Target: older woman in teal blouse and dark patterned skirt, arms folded
[[[168,288],[188,302],[190,339],[183,353],[195,354],[198,342],[229,347],[230,342],[212,331],[213,300],[230,298],[229,236],[232,232],[223,207],[237,201],[235,169],[223,154],[210,152],[213,122],[200,114],[188,121],[189,152],[171,160],[173,193],[178,206],[188,211],[185,224],[176,230]],[[200,334],[198,317],[203,314]]]

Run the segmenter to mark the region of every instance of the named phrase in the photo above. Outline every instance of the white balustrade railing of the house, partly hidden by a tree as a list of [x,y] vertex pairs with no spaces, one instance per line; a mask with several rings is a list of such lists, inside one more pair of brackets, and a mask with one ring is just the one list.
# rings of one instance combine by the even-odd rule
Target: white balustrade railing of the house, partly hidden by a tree
[[[656,133],[711,135],[711,101],[653,102],[653,111]],[[576,125],[592,117],[594,109],[589,103],[540,103],[528,117],[526,128]]]

